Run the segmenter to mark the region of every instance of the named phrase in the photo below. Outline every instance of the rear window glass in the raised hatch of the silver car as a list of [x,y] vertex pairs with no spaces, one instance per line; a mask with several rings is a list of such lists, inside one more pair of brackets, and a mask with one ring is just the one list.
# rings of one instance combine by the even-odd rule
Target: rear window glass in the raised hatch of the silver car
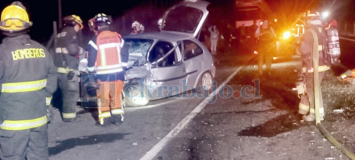
[[202,16],[203,12],[199,9],[192,7],[177,7],[171,10],[166,16],[163,29],[194,33]]

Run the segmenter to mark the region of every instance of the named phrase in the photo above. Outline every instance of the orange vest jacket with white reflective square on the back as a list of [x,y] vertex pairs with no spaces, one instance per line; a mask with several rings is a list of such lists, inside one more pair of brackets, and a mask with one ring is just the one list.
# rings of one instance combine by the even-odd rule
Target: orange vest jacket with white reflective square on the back
[[89,41],[87,70],[96,71],[101,81],[124,80],[128,50],[123,45],[119,34],[108,27],[99,29],[99,34]]

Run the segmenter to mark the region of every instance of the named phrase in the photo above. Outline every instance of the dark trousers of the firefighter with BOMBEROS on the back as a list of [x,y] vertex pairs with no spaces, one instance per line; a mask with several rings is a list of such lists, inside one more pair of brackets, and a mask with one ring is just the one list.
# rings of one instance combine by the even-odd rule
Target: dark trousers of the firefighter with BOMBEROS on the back
[[0,157],[7,159],[49,159],[47,124],[28,130],[0,130]]

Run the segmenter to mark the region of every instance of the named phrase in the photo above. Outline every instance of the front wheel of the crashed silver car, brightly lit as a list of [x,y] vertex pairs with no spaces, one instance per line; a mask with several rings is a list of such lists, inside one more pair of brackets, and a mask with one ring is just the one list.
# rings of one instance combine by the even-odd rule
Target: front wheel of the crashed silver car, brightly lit
[[[142,81],[140,81],[142,82]],[[148,104],[148,87],[140,82],[127,84],[124,87],[125,107],[139,107]]]

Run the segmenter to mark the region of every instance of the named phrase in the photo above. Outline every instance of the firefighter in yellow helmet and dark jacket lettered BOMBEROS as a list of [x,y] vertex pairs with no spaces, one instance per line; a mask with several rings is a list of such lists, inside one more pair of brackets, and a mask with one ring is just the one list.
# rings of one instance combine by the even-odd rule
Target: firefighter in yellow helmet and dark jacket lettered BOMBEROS
[[47,115],[57,87],[53,59],[27,35],[32,22],[20,2],[3,10],[1,22],[0,158],[49,159]]

